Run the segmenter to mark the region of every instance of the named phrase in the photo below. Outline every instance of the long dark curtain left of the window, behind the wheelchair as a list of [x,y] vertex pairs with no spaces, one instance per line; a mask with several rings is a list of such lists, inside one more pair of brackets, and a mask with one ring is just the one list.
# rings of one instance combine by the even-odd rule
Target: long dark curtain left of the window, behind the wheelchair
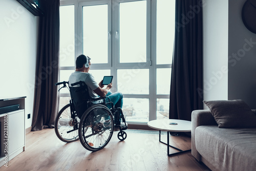
[[32,131],[54,127],[59,73],[59,0],[46,0],[39,18]]

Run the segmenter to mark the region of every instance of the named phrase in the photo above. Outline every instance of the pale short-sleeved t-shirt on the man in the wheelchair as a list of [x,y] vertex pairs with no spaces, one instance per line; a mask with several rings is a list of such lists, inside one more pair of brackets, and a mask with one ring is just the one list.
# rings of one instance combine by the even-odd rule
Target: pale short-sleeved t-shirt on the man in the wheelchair
[[[92,98],[99,97],[96,93],[94,93],[94,90],[97,89],[99,87],[99,85],[95,81],[92,74],[86,73],[86,72],[80,72],[80,71],[73,72],[69,77],[69,86],[71,87],[72,83],[75,83],[78,81],[84,81],[87,84],[87,87],[89,89],[89,95]],[[79,87],[79,84],[74,87]]]

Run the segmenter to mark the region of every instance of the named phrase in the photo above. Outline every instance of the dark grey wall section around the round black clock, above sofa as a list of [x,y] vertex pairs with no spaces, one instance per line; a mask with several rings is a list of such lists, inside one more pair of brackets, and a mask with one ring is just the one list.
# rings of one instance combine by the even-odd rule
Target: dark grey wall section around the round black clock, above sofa
[[242,99],[256,109],[256,34],[243,24],[246,0],[229,0],[228,99]]

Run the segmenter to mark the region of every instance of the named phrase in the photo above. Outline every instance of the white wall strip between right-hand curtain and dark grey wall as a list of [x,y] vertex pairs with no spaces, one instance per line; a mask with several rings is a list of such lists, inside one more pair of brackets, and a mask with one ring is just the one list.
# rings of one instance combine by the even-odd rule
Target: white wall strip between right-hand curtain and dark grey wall
[[227,100],[228,0],[203,4],[203,57],[204,100]]

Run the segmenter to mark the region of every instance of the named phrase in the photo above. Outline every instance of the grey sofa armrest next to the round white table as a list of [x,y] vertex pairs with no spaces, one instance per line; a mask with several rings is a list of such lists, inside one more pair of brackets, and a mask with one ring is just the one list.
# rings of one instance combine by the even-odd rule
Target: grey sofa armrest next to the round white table
[[198,153],[195,141],[196,128],[200,125],[218,125],[209,110],[196,110],[191,113],[191,154],[201,161],[201,155]]

